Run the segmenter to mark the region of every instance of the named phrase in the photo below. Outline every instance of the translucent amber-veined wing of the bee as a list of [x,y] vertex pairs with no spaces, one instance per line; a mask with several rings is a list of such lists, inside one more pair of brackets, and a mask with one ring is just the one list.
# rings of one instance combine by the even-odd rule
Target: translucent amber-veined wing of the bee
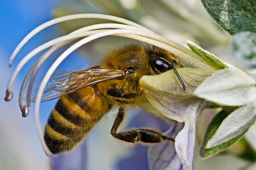
[[[122,70],[100,68],[91,68],[80,71],[56,70],[47,82],[41,101],[44,102],[55,99],[66,94],[73,93],[80,88],[124,76],[125,72]],[[33,85],[31,95],[32,102],[35,102],[35,98],[43,78],[44,76],[38,78]]]

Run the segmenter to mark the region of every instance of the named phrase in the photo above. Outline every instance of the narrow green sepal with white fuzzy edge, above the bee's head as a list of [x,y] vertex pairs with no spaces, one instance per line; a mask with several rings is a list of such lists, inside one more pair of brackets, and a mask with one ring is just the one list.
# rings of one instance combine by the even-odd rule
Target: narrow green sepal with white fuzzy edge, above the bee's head
[[195,43],[187,41],[187,45],[192,51],[203,57],[207,62],[209,62],[210,65],[214,66],[217,70],[227,68],[227,65],[223,61],[221,61],[221,59],[204,50]]

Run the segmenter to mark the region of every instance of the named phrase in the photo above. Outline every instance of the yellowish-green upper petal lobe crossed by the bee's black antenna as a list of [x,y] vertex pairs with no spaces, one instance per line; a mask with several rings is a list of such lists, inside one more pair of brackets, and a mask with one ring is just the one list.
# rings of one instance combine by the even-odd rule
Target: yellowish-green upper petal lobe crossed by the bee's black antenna
[[183,90],[173,70],[155,76],[143,76],[140,79],[140,85],[148,91],[154,91],[154,93],[158,92],[179,98],[189,98],[192,97],[198,85],[214,73],[215,70],[206,68],[177,68],[177,72],[185,84],[186,91]]

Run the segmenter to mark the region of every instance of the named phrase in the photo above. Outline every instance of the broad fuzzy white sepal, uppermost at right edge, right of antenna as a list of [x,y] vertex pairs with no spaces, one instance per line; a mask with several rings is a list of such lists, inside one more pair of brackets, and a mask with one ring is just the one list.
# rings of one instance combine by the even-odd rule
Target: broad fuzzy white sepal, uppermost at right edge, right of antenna
[[193,95],[219,105],[241,106],[256,98],[255,81],[231,66],[216,71],[196,88]]

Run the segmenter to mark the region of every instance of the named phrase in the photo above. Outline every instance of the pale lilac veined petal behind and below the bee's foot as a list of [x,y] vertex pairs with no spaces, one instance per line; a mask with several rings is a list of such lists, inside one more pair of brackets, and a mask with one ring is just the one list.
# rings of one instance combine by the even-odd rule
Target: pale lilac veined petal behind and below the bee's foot
[[[184,123],[172,120],[170,129],[167,130],[164,135],[175,138],[183,126]],[[177,156],[174,142],[164,141],[160,144],[149,147],[148,166],[150,170],[180,170],[182,164]]]

